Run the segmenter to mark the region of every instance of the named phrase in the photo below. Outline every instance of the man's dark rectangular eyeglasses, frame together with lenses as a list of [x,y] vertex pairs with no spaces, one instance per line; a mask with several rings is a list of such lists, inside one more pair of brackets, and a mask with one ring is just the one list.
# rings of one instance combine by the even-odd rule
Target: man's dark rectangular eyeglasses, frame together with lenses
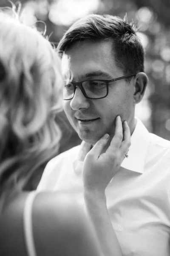
[[71,82],[63,85],[63,99],[70,100],[74,98],[76,87],[78,86],[83,95],[88,99],[102,99],[108,96],[108,84],[113,81],[124,79],[126,77],[135,76],[136,74],[130,74],[121,76],[111,80],[85,80],[81,82]]

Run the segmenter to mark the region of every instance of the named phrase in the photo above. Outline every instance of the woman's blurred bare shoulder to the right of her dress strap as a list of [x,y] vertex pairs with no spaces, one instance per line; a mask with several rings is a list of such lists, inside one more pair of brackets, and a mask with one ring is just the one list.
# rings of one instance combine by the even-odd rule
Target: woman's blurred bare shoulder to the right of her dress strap
[[38,255],[99,256],[85,213],[69,195],[39,193],[33,206],[33,227]]

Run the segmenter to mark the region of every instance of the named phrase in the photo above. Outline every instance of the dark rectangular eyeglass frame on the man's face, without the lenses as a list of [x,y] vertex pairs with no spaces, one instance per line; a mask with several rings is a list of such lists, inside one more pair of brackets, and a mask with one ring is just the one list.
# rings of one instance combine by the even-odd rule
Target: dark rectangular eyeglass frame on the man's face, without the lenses
[[[111,79],[111,80],[89,79],[89,80],[84,80],[84,81],[81,81],[81,82],[71,82],[70,84],[73,84],[73,87],[74,87],[74,94],[75,94],[75,92],[76,92],[76,87],[79,87],[80,90],[82,91],[82,94],[83,94],[86,98],[88,98],[88,99],[103,99],[103,98],[105,98],[105,97],[108,96],[108,93],[109,93],[108,84],[109,84],[110,82],[118,81],[118,80],[124,79],[124,78],[126,78],[126,77],[130,77],[130,76],[136,76],[136,74],[130,74],[130,75],[126,75],[126,76],[120,76],[120,77],[118,77],[118,78]],[[82,83],[85,82],[85,81],[102,81],[102,82],[105,82],[106,88],[107,88],[106,96],[100,97],[100,98],[91,98],[91,97],[88,97],[87,94],[85,93],[85,90],[84,90],[83,86],[82,86]],[[64,100],[71,100],[71,99],[73,99],[73,98],[74,98],[74,94],[73,94],[73,97],[72,97],[72,98],[70,98],[70,99],[64,99]]]

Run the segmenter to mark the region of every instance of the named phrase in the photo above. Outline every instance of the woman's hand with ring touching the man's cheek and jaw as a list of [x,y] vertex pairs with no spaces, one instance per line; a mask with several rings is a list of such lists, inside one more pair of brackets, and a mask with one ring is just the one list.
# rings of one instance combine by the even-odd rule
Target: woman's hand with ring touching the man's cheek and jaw
[[[105,192],[108,183],[118,171],[130,146],[130,129],[127,122],[116,117],[115,135],[105,153],[109,135],[105,134],[85,156],[83,183],[85,189]],[[86,145],[84,144],[84,147]]]

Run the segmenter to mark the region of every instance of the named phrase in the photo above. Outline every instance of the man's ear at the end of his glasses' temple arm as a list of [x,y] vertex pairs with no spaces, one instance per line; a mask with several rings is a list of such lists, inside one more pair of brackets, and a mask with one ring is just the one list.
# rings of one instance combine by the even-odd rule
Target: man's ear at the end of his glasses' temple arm
[[143,72],[136,74],[134,78],[134,94],[133,94],[133,103],[137,104],[141,102],[144,92],[147,86],[148,78],[147,75]]

